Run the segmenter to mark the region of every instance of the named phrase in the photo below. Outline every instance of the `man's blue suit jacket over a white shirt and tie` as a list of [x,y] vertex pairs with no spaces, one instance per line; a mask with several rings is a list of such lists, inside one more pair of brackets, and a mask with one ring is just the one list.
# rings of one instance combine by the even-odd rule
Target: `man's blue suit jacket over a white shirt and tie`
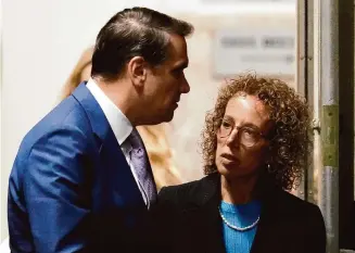
[[12,252],[132,252],[147,207],[81,84],[24,138],[9,181]]

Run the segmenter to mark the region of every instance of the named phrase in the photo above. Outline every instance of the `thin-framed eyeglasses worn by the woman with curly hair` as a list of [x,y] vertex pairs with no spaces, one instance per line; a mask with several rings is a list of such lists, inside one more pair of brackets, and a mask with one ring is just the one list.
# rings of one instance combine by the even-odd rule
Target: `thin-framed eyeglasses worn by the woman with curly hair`
[[231,121],[223,119],[218,129],[219,138],[227,138],[233,129],[237,129],[237,140],[240,144],[248,148],[257,144],[265,136],[256,128],[251,126],[234,126]]

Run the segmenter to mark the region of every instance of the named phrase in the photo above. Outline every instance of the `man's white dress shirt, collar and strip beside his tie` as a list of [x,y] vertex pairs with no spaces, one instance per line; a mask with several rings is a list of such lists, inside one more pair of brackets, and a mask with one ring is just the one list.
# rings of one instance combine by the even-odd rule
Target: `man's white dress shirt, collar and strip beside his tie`
[[145,202],[148,204],[148,200],[145,194],[143,193],[143,189],[141,188],[140,184],[138,182],[138,177],[135,172],[134,165],[130,161],[130,151],[131,144],[128,141],[128,136],[132,130],[132,125],[128,121],[128,118],[121,112],[121,110],[111,101],[111,99],[101,90],[101,88],[94,83],[92,78],[90,78],[86,85],[86,87],[90,90],[93,98],[99,103],[100,107],[102,109],[104,115],[107,118],[107,122],[117,139],[117,142],[124,153],[126,161],[130,167],[130,170],[135,177],[139,191]]

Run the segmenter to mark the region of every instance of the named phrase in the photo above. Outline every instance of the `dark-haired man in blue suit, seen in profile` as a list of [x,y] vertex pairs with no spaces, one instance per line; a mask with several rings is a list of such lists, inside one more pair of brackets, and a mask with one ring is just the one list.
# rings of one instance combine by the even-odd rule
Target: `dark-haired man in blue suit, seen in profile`
[[91,78],[22,141],[9,181],[12,252],[141,250],[156,188],[135,127],[172,121],[189,92],[192,30],[145,8],[102,27]]

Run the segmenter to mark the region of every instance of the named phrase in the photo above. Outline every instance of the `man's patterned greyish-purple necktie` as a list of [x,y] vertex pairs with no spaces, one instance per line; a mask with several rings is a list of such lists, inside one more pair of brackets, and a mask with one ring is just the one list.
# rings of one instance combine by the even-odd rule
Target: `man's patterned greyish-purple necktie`
[[132,147],[132,150],[130,151],[130,160],[138,177],[138,181],[147,197],[148,207],[150,207],[150,204],[155,202],[157,193],[144,144],[136,128],[132,129],[128,140]]

